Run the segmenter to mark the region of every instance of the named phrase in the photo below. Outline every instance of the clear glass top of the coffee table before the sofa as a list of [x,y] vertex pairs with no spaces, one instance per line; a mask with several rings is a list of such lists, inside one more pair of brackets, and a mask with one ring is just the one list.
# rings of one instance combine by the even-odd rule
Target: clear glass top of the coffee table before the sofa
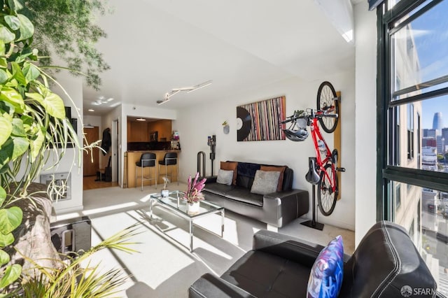
[[215,212],[223,207],[218,206],[211,201],[202,200],[200,201],[200,211],[199,213],[195,213],[194,215],[190,215],[187,213],[187,202],[182,199],[185,193],[180,190],[174,190],[169,192],[168,197],[162,197],[160,193],[151,194],[151,199],[156,199],[161,204],[170,206],[172,208],[176,208],[178,211],[181,211],[185,215],[194,218],[198,215],[202,215],[204,213]]

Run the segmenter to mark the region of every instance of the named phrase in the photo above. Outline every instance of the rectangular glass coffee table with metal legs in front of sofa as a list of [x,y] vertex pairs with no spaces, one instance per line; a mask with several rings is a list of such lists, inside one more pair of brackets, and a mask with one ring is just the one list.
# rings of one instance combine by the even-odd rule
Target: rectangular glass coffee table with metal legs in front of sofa
[[[157,202],[160,206],[165,207],[168,211],[179,215],[181,218],[188,220],[190,225],[190,252],[193,252],[193,220],[196,218],[202,218],[204,216],[221,212],[221,238],[224,236],[224,208],[211,203],[207,200],[200,201],[200,211],[198,213],[188,214],[187,213],[187,203],[182,199],[183,192],[179,190],[174,190],[169,192],[168,197],[162,197],[160,193],[151,194],[149,200],[149,215],[153,218],[153,202]],[[208,230],[211,232],[210,230]],[[163,231],[162,231],[163,232]],[[211,232],[215,234],[214,232]],[[164,232],[165,235],[169,236]],[[169,236],[172,238],[171,236]],[[176,239],[174,239],[176,240]]]

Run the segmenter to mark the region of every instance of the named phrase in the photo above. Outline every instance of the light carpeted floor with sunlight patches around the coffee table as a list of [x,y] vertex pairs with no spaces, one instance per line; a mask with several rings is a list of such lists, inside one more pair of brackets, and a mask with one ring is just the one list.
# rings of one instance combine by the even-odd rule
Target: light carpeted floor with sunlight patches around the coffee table
[[[186,185],[172,183],[170,187],[183,190]],[[140,222],[140,234],[132,240],[132,248],[139,253],[102,250],[92,262],[101,262],[103,269],[122,268],[129,277],[118,293],[120,297],[188,297],[188,287],[202,274],[221,275],[241,255],[252,247],[252,236],[265,229],[262,222],[225,212],[225,232],[221,233],[221,215],[210,215],[195,221],[193,253],[189,249],[188,222],[165,208],[155,206],[155,218],[148,217],[148,199],[154,187],[122,189],[109,187],[83,192],[84,211],[58,215],[55,220],[88,215],[92,220],[92,244],[119,232],[135,222]],[[279,229],[322,245],[339,234],[344,239],[345,252],[354,250],[354,233],[325,225],[323,231],[300,225],[299,218]],[[207,227],[211,232],[201,227]],[[164,231],[166,234],[164,234]],[[216,233],[216,234],[214,234]],[[169,236],[167,236],[169,235]]]

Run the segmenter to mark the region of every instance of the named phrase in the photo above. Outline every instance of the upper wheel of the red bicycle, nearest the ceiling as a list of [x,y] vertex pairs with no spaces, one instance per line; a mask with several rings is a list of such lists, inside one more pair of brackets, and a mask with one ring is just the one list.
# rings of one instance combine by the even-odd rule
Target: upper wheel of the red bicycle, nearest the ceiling
[[[325,132],[332,133],[339,120],[339,102],[335,100],[336,91],[330,82],[323,82],[317,90],[317,109],[325,111],[330,117],[319,118]],[[331,115],[333,114],[333,117]]]

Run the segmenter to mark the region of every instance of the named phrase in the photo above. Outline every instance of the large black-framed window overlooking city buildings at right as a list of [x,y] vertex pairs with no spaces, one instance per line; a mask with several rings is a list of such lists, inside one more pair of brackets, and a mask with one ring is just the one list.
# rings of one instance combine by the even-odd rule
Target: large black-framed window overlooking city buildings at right
[[437,280],[438,290],[445,296],[448,296],[447,12],[448,0],[386,0],[377,8],[381,49],[378,219],[393,220],[409,231]]

